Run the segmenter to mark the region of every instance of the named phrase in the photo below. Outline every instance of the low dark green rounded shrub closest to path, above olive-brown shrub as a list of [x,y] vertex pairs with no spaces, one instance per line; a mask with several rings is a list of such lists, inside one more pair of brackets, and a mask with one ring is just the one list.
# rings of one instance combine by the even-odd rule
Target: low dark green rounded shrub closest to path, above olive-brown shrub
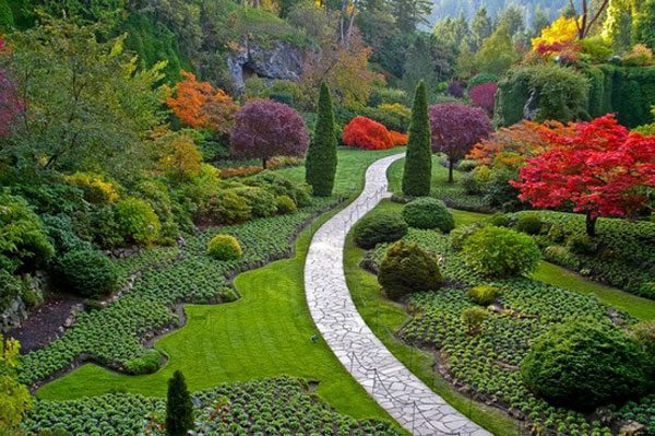
[[374,213],[361,219],[354,228],[355,244],[370,249],[381,243],[393,243],[407,234],[407,223],[400,213]]

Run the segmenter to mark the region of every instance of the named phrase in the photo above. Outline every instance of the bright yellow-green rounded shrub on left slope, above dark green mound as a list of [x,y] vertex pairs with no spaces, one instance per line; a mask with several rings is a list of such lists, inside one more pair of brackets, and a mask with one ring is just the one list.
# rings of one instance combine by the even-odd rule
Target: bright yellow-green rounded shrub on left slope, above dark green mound
[[159,236],[162,223],[145,200],[129,197],[116,204],[118,226],[127,239],[136,244],[152,244]]

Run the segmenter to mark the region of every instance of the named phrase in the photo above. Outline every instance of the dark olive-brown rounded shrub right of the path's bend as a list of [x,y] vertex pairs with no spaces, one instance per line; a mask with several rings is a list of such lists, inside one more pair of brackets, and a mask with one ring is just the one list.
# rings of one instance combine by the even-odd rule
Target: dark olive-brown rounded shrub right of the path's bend
[[378,282],[391,299],[417,291],[433,291],[443,284],[437,259],[416,243],[398,240],[386,250]]

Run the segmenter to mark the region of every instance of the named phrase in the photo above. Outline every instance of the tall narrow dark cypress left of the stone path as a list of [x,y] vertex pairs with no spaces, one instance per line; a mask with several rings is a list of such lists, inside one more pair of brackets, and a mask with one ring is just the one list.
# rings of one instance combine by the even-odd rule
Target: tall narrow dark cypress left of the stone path
[[314,196],[330,197],[334,189],[336,174],[336,138],[334,132],[334,109],[330,89],[321,83],[319,113],[314,135],[307,151],[305,179],[313,188]]

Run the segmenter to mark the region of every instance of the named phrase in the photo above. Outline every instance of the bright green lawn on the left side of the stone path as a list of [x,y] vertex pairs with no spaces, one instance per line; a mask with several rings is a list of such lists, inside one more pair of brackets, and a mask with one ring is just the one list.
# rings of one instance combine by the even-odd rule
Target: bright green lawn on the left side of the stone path
[[[337,191],[359,191],[364,170],[389,154],[393,153],[340,150],[342,179]],[[284,172],[301,178],[303,168]],[[305,301],[305,257],[313,231],[331,215],[323,215],[301,233],[291,259],[239,274],[235,280],[241,295],[239,301],[187,305],[187,325],[155,344],[169,356],[157,373],[126,376],[88,364],[44,386],[37,396],[71,399],[111,390],[163,396],[166,380],[176,369],[184,373],[191,390],[226,381],[289,375],[320,381],[317,392],[342,413],[390,419],[323,341],[310,340],[318,331]]]

